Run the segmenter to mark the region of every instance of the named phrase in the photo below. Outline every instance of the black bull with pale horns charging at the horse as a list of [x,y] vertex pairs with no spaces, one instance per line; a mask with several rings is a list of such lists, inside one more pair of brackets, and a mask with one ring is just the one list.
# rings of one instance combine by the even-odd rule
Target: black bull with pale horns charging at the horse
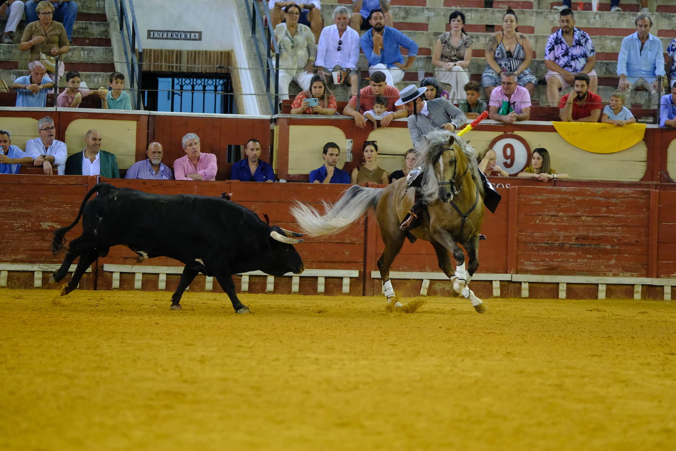
[[[90,202],[89,198],[98,193]],[[82,200],[72,224],[54,232],[52,250],[62,252],[65,235],[82,216],[82,235],[70,241],[66,258],[51,277],[58,282],[78,256],[78,266],[61,294],[73,291],[84,271],[111,246],[127,245],[142,258],[170,257],[185,264],[172,295],[180,310],[183,291],[199,272],[216,277],[237,313],[249,308],[239,302],[232,275],[262,270],[281,276],[303,271],[303,260],[293,244],[299,233],[268,226],[251,210],[221,197],[150,194],[107,183],[93,187]]]

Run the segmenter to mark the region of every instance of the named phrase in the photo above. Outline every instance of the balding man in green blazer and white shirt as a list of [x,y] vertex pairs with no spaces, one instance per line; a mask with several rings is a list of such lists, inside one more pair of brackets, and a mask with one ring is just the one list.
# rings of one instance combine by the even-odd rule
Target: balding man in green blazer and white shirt
[[119,179],[118,160],[114,153],[101,150],[99,130],[89,130],[84,135],[84,143],[87,147],[66,160],[66,175],[100,175],[107,179]]

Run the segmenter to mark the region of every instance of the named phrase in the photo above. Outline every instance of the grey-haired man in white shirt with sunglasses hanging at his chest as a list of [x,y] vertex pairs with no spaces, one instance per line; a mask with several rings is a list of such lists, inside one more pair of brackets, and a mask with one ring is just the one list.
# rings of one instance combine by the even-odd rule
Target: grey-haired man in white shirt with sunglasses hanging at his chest
[[325,27],[319,37],[316,66],[327,82],[334,82],[331,72],[340,72],[339,84],[347,83],[350,95],[355,95],[359,88],[359,33],[347,26],[348,21],[346,7],[333,10],[333,25]]

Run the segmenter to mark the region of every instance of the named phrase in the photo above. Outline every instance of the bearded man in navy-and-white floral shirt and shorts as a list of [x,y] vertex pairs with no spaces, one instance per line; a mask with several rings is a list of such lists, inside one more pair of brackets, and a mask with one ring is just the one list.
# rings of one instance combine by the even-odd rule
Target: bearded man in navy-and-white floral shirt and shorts
[[548,72],[547,100],[556,106],[559,91],[573,85],[575,74],[589,75],[589,91],[596,93],[596,50],[589,34],[575,28],[575,16],[570,9],[563,9],[558,21],[559,30],[553,32],[545,46],[545,67]]

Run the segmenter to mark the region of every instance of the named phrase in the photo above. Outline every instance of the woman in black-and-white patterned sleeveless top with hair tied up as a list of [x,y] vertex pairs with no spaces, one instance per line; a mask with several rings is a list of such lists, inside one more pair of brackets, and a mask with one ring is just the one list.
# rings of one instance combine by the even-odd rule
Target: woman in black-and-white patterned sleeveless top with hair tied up
[[530,93],[537,85],[537,77],[528,66],[533,60],[533,45],[528,37],[516,30],[518,20],[512,9],[502,16],[502,31],[493,33],[486,41],[486,62],[488,67],[481,75],[481,85],[488,97],[500,85],[501,72],[514,72],[516,82]]

